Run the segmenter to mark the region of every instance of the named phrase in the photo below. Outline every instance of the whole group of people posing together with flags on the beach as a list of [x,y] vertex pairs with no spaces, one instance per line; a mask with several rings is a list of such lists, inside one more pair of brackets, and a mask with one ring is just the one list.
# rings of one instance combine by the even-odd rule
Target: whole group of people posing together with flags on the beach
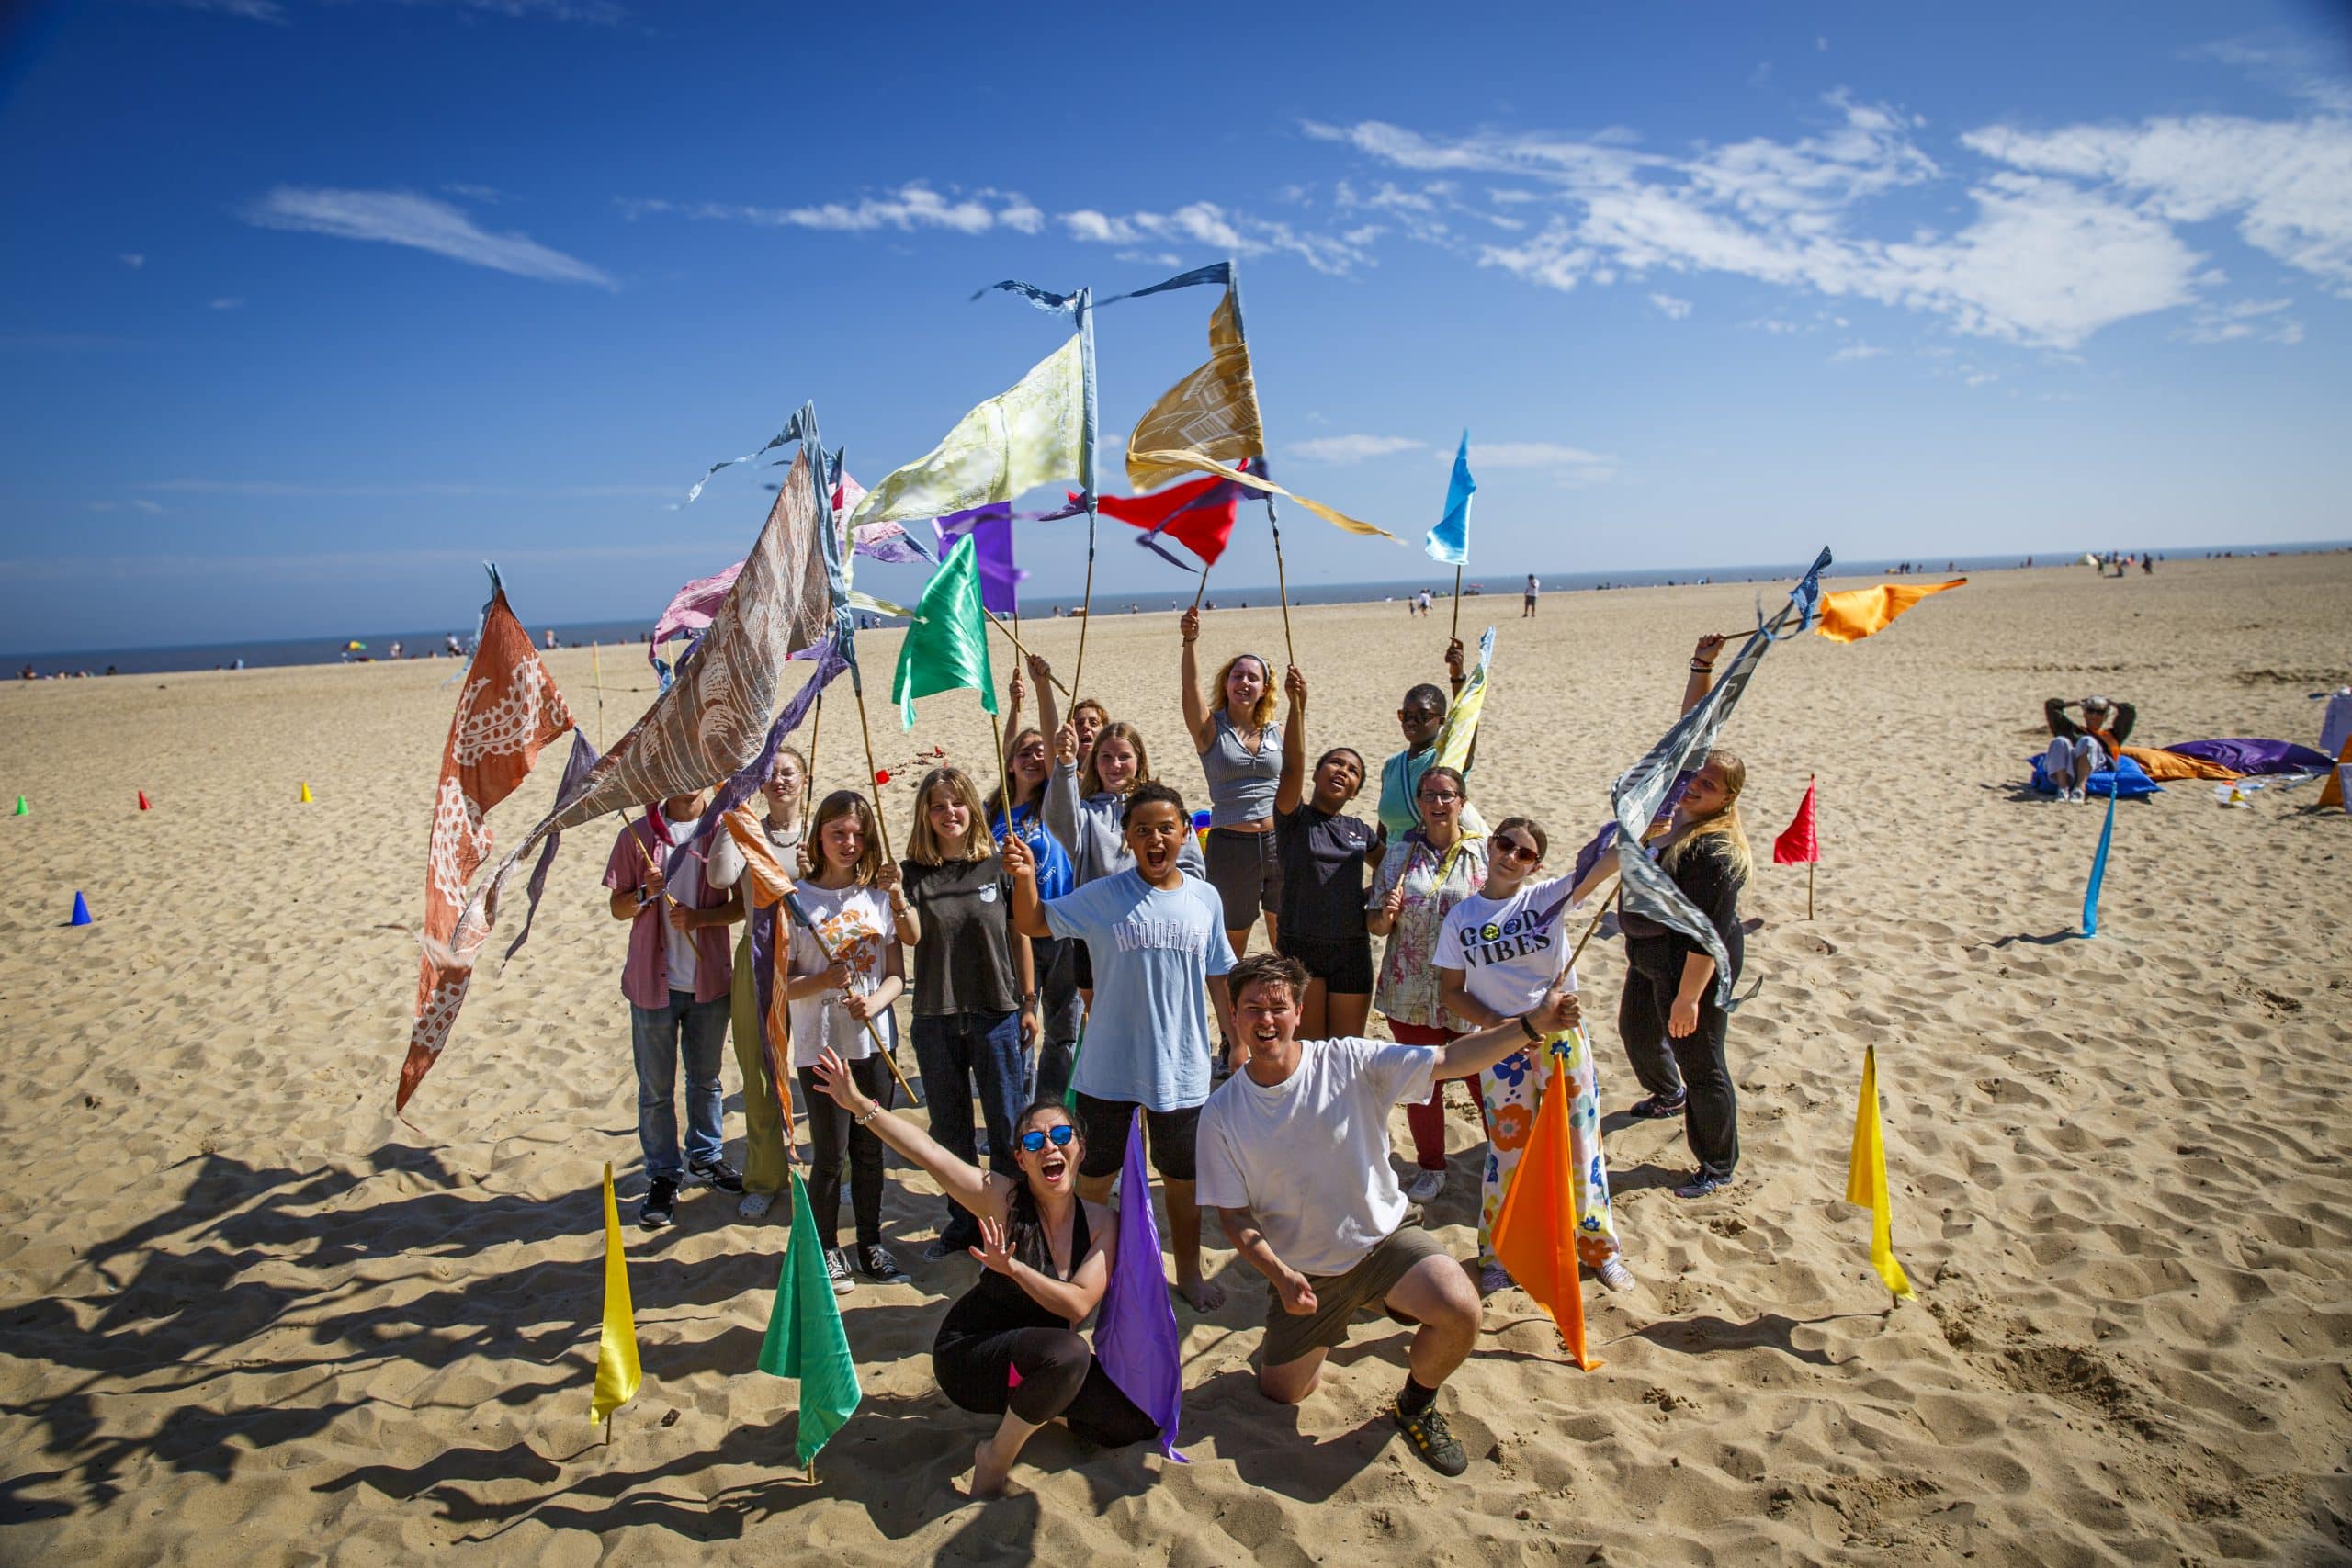
[[[1555,872],[1545,825],[1489,825],[1470,802],[1475,733],[1449,724],[1465,684],[1458,639],[1444,654],[1454,693],[1409,689],[1404,745],[1374,773],[1350,745],[1310,762],[1303,670],[1277,682],[1270,661],[1244,651],[1204,684],[1200,611],[1181,635],[1183,731],[1209,792],[1202,835],[1183,795],[1155,778],[1143,731],[1084,696],[1058,715],[1035,656],[1028,682],[1011,684],[1004,785],[983,797],[955,766],[924,773],[903,860],[889,858],[866,795],[835,790],[809,811],[807,762],[779,750],[762,790],[764,849],[797,867],[804,926],[774,905],[746,922],[746,856],[727,832],[663,877],[708,792],[656,802],[623,827],[604,886],[614,917],[630,922],[623,992],[647,1166],[637,1218],[668,1225],[689,1185],[741,1192],[746,1218],[767,1213],[793,1159],[788,1088],[769,1063],[800,1086],[809,1206],[837,1291],[908,1279],[882,1241],[884,1147],[929,1171],[946,1204],[924,1260],[967,1253],[983,1265],[941,1324],[934,1366],[957,1406],[1000,1422],[974,1453],[985,1493],[1049,1420],[1096,1443],[1155,1432],[1077,1333],[1108,1286],[1108,1204],[1129,1135],[1141,1135],[1164,1187],[1176,1293],[1200,1312],[1223,1302],[1202,1267],[1204,1208],[1268,1281],[1258,1387],[1305,1399],[1350,1319],[1385,1309],[1414,1326],[1395,1420],[1416,1455],[1461,1474],[1468,1460],[1435,1394],[1477,1340],[1479,1298],[1512,1284],[1494,1225],[1555,1079],[1571,1095],[1578,1255],[1604,1286],[1635,1288],[1578,1027],[1578,917],[1618,853],[1653,853],[1738,969],[1745,771],[1708,755],[1649,844]],[[1705,637],[1693,649],[1684,710],[1708,693],[1719,646]],[[1021,722],[1030,684],[1035,726]],[[1378,790],[1371,820],[1350,811],[1367,785]],[[1251,954],[1261,922],[1265,950]],[[1677,1192],[1705,1197],[1738,1166],[1715,961],[1677,931],[1630,912],[1623,924],[1618,1032],[1646,1091],[1632,1114],[1684,1119],[1696,1171]],[[760,997],[762,961],[774,964],[774,1004]],[[901,999],[927,1126],[891,1112]],[[1388,1041],[1369,1037],[1374,1009]],[[743,1171],[720,1135],[729,1016]],[[1418,1222],[1449,1175],[1449,1081],[1486,1131],[1468,1269]],[[1399,1103],[1414,1143],[1404,1182],[1388,1138]],[[854,1251],[837,1246],[844,1180]]]

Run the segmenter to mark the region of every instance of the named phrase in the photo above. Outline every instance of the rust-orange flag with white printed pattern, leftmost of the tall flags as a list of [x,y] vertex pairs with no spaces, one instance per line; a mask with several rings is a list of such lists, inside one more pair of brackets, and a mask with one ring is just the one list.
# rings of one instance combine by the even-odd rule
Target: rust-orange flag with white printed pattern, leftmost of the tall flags
[[[409,1103],[419,1079],[433,1067],[449,1025],[466,1001],[473,978],[466,961],[452,961],[466,912],[466,884],[489,858],[489,830],[482,816],[515,792],[539,762],[541,748],[572,726],[562,693],[548,679],[532,649],[532,635],[515,621],[506,590],[492,574],[489,607],[482,611],[482,639],[466,670],[456,712],[449,717],[449,741],[442,745],[442,776],[433,795],[433,837],[426,856],[426,924],[416,959],[416,1011],[409,1023],[409,1053],[400,1063],[400,1093],[393,1110]],[[517,851],[520,853],[520,851]],[[482,931],[487,938],[489,931]],[[480,945],[480,938],[475,938]]]

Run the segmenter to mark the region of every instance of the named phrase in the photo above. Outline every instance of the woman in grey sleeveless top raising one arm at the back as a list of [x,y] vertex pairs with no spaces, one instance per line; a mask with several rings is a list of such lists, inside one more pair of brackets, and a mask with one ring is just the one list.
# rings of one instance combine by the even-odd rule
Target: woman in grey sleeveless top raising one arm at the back
[[1188,609],[1178,630],[1183,726],[1209,778],[1209,882],[1225,903],[1225,943],[1240,957],[1249,952],[1249,929],[1261,912],[1265,940],[1282,940],[1282,860],[1275,853],[1282,724],[1275,719],[1275,677],[1256,654],[1235,654],[1216,672],[1216,684],[1202,691],[1200,611]]

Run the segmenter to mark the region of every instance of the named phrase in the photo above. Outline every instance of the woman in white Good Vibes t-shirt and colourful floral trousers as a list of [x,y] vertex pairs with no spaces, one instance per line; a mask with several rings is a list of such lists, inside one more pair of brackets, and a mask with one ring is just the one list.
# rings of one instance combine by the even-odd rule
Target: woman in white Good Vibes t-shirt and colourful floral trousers
[[[1595,865],[1576,882],[1538,877],[1548,849],[1543,825],[1524,816],[1505,816],[1486,835],[1486,882],[1463,898],[1437,931],[1437,985],[1446,1013],[1475,1030],[1526,1013],[1555,985],[1576,990],[1569,950],[1576,943],[1576,912],[1583,900],[1616,875]],[[1632,1272],[1618,1258],[1616,1220],[1609,1213],[1609,1166],[1602,1159],[1599,1081],[1592,1074],[1592,1046],[1576,1034],[1555,1053],[1550,1046],[1512,1051],[1479,1072],[1479,1112],[1486,1117],[1486,1171],[1479,1180],[1477,1262],[1479,1295],[1494,1295],[1512,1284],[1494,1255],[1494,1222],[1503,1213],[1503,1192],[1536,1135],[1536,1107],[1555,1077],[1555,1063],[1566,1074],[1569,1145],[1576,1164],[1576,1260],[1597,1272],[1611,1291],[1632,1291]]]

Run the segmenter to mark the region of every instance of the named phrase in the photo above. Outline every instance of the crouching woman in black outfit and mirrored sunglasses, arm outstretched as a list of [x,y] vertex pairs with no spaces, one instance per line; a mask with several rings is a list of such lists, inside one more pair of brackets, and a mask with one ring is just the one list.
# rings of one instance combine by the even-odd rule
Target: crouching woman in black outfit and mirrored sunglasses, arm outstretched
[[971,1450],[971,1495],[1002,1490],[1021,1446],[1049,1420],[1103,1448],[1157,1436],[1157,1422],[1120,1392],[1077,1333],[1110,1286],[1120,1220],[1077,1197],[1087,1145],[1061,1103],[1040,1100],[1021,1112],[1014,1124],[1021,1178],[1011,1180],[957,1159],[913,1121],[882,1110],[833,1051],[811,1074],[858,1126],[929,1171],[978,1220],[981,1246],[971,1255],[988,1272],[948,1307],[931,1342],[938,1389],[964,1410],[1002,1415],[995,1434]]

